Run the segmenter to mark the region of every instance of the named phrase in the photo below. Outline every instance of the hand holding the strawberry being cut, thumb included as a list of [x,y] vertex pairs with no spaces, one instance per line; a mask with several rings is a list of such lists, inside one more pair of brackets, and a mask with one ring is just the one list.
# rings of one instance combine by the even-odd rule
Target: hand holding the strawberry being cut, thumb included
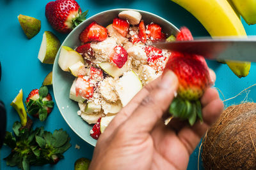
[[177,86],[172,71],[146,85],[100,135],[90,169],[186,169],[223,103],[215,89],[207,89],[201,99],[203,123],[191,127],[173,119],[164,125]]

